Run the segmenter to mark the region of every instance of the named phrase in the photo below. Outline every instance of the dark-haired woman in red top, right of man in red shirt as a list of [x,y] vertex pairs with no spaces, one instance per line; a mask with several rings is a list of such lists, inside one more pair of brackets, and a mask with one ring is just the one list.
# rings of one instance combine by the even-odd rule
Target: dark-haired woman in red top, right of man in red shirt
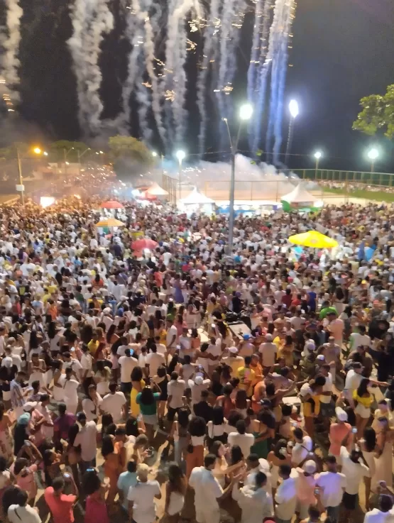
[[82,492],[87,495],[84,523],[109,523],[105,501],[106,486],[102,485],[96,470],[84,473]]

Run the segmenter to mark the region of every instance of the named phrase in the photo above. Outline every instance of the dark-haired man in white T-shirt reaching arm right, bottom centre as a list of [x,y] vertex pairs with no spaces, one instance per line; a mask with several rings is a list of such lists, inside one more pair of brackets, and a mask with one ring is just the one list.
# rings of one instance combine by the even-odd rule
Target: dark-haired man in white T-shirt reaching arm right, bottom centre
[[195,489],[195,510],[197,523],[219,523],[220,512],[218,500],[224,499],[231,492],[234,484],[240,479],[232,478],[228,487],[223,490],[212,470],[216,463],[214,454],[207,454],[203,467],[195,467],[190,475],[189,485]]

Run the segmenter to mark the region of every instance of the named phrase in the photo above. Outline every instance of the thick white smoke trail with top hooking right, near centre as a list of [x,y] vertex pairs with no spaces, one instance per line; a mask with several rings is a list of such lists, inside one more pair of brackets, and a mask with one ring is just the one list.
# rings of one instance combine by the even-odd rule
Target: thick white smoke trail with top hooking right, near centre
[[[201,17],[198,0],[177,0],[175,9],[168,13],[167,43],[165,49],[165,92],[173,93],[171,107],[168,101],[166,114],[170,116],[170,125],[175,124],[175,145],[182,145],[185,136],[187,111],[185,109],[187,78],[185,63],[187,57],[187,31],[185,16],[194,11]],[[194,21],[195,23],[197,21]],[[192,42],[190,42],[192,43]]]

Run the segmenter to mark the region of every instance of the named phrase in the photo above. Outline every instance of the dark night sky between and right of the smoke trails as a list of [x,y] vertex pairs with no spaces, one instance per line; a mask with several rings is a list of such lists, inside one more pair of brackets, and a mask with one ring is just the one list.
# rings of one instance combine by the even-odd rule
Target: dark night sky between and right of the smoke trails
[[[0,0],[0,14],[4,4]],[[116,2],[114,0],[114,11]],[[82,138],[77,121],[75,77],[65,40],[72,28],[67,0],[21,0],[22,19],[20,112],[28,133],[43,138]],[[288,69],[286,106],[291,98],[300,104],[292,153],[310,155],[317,148],[324,152],[322,167],[368,170],[365,150],[381,147],[383,158],[376,170],[394,172],[394,148],[385,138],[369,138],[351,130],[359,111],[359,99],[368,94],[383,94],[394,83],[394,2],[393,0],[298,0],[292,33]],[[104,116],[116,115],[120,84],[126,75],[125,40],[119,39],[122,21],[106,38],[102,53]],[[234,97],[243,98],[243,78],[248,65],[252,18],[246,16],[239,49],[239,72]],[[195,106],[195,60],[187,65],[190,87],[187,108],[190,130],[187,148],[197,151]],[[194,73],[193,73],[194,72]],[[131,101],[133,104],[133,101]],[[212,111],[214,116],[214,111]],[[288,124],[285,114],[284,126]],[[215,121],[210,128],[215,129]],[[138,126],[132,133],[138,136]],[[284,131],[284,136],[287,132]],[[4,137],[2,138],[4,141]],[[214,131],[209,137],[216,146]],[[209,145],[209,144],[208,144]],[[285,144],[283,145],[285,148]],[[211,150],[212,150],[211,149]],[[293,167],[312,167],[310,157],[293,157]]]

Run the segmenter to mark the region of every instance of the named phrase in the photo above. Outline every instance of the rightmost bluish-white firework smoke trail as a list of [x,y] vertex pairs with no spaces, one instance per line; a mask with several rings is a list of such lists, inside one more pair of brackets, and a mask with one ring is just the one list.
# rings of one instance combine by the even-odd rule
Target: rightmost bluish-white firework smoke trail
[[283,96],[293,10],[294,0],[277,0],[275,4],[274,23],[276,21],[276,24],[273,33],[270,113],[266,135],[266,151],[268,154],[272,150],[272,142],[275,136],[275,150],[273,151],[275,162],[278,162],[280,145],[282,143]]

